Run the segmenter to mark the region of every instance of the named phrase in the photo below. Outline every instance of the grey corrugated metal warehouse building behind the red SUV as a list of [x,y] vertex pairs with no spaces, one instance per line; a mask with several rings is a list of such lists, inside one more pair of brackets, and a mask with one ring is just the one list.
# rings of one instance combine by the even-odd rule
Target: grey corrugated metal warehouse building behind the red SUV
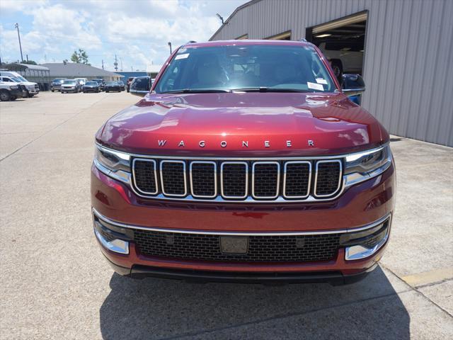
[[210,40],[302,38],[362,74],[362,106],[389,132],[453,146],[452,0],[253,0]]

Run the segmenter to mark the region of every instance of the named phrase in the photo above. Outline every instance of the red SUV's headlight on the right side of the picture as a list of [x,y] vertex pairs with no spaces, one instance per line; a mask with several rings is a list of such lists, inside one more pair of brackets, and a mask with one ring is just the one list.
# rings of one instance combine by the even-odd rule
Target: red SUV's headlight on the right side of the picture
[[365,152],[357,152],[346,157],[345,185],[360,183],[382,174],[391,164],[389,145]]

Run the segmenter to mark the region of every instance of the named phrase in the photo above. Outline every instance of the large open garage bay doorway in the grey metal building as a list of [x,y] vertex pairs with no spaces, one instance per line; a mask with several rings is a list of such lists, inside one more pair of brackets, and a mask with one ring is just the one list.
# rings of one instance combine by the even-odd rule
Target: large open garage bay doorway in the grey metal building
[[338,79],[342,74],[363,74],[368,11],[306,28],[313,42],[331,62]]

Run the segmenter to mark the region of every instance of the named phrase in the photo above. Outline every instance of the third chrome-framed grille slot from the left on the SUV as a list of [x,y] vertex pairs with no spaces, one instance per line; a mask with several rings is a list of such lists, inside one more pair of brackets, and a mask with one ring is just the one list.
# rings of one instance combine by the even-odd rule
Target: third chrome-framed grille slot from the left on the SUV
[[217,164],[195,161],[190,163],[190,187],[192,196],[214,198],[217,196]]

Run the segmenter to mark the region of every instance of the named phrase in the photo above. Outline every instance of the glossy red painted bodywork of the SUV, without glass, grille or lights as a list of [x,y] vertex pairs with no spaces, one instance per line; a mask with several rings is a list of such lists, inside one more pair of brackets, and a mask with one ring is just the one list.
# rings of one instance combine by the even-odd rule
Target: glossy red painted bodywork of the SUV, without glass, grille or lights
[[[305,42],[234,40],[191,44],[304,45]],[[373,149],[389,134],[365,109],[341,93],[322,56],[336,93],[147,94],[110,118],[96,142],[130,154],[171,157],[319,157]],[[156,77],[154,86],[173,55]],[[346,188],[333,200],[307,203],[216,203],[152,200],[137,196],[125,183],[91,169],[91,203],[110,220],[140,227],[229,232],[323,231],[362,227],[394,210],[394,164],[383,174]],[[130,254],[101,246],[116,266],[135,265],[205,271],[323,272],[347,275],[366,271],[382,256],[345,261],[345,250],[319,263],[241,263],[182,261],[144,256],[134,243]]]

